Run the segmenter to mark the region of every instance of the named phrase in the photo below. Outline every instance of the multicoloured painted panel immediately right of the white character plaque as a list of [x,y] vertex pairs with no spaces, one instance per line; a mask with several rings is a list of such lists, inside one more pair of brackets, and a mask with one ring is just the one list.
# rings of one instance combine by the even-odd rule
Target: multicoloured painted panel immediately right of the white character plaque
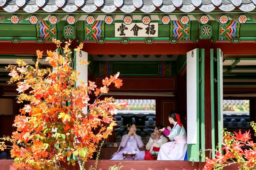
[[180,21],[171,21],[170,38],[190,40],[190,21],[187,24],[182,24]]

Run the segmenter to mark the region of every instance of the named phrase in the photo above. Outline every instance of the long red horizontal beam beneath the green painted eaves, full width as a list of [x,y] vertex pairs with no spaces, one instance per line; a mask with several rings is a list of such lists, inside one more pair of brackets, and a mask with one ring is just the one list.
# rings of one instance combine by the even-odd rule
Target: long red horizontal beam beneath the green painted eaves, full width
[[[220,48],[224,54],[255,54],[256,43],[255,42],[242,42],[242,43],[230,43],[230,42],[216,42],[208,44],[211,48]],[[0,42],[0,54],[35,54],[36,50],[40,51],[55,50],[56,45],[54,43],[35,43],[35,42]],[[73,45],[74,46],[74,45]],[[186,52],[198,48],[197,43],[191,41],[180,42],[175,44],[170,43],[84,43],[83,50],[89,54],[136,54],[136,55],[159,55],[159,54],[186,54]]]

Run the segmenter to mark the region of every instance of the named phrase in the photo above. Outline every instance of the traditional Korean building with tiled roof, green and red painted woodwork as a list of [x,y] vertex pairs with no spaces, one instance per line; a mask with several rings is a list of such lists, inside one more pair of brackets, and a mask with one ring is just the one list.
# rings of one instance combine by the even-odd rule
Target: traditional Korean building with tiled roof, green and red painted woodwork
[[[155,124],[168,126],[168,114],[176,111],[188,134],[188,160],[204,162],[198,152],[214,149],[222,139],[223,99],[250,100],[246,120],[256,121],[255,5],[255,0],[0,0],[0,136],[11,135],[22,107],[15,102],[16,87],[6,84],[5,66],[18,58],[33,65],[37,49],[56,49],[52,38],[72,39],[72,48],[84,43],[74,57],[91,62],[80,68],[84,79],[99,85],[120,71],[124,85],[109,95],[154,103],[155,112],[146,116],[132,110],[116,115],[114,133],[137,120],[146,138]],[[48,66],[40,61],[40,67]],[[102,158],[117,150],[113,144],[118,134],[108,139]]]

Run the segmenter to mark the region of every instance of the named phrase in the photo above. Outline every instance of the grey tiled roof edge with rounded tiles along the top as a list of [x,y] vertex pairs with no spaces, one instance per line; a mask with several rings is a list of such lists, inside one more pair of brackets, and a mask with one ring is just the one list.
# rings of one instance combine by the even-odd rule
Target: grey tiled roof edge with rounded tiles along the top
[[114,12],[117,8],[124,13],[134,12],[136,8],[144,13],[153,12],[156,8],[165,13],[171,13],[176,8],[188,13],[196,7],[202,12],[211,12],[216,7],[224,12],[236,7],[249,12],[255,9],[255,4],[256,0],[0,0],[0,7],[6,12],[16,12],[21,7],[28,13],[37,12],[39,7],[45,12],[55,12],[58,8],[75,12],[80,7],[85,13],[92,13],[98,7],[105,13]]

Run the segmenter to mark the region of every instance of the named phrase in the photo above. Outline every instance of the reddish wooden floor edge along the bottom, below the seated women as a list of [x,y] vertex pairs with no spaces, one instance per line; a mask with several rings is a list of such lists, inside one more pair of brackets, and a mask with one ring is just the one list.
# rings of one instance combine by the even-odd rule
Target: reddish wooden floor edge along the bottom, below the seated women
[[[0,170],[16,170],[12,167],[13,160],[0,160]],[[108,170],[109,166],[122,164],[124,168],[122,170],[202,170],[204,162],[192,162],[189,161],[159,161],[159,160],[99,160],[98,169]],[[95,165],[95,160],[89,160],[86,162],[86,170],[90,165]],[[63,165],[66,170],[79,170],[78,164],[76,166]],[[238,165],[233,164],[225,170],[237,170]]]

